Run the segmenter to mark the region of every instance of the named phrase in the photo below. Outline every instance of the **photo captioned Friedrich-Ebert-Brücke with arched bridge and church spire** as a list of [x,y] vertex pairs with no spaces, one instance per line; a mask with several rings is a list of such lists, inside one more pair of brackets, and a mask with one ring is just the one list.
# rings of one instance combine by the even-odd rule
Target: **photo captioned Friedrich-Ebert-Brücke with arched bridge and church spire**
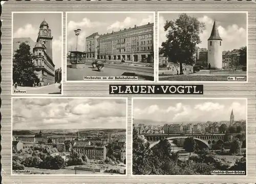
[[247,99],[133,99],[133,175],[246,175]]

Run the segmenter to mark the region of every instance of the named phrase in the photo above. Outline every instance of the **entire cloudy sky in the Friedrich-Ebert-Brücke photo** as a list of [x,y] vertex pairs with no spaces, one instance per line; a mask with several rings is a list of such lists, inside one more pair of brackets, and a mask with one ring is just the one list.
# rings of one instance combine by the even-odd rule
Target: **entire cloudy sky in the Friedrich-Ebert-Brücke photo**
[[134,99],[134,119],[159,122],[229,121],[246,119],[244,99]]

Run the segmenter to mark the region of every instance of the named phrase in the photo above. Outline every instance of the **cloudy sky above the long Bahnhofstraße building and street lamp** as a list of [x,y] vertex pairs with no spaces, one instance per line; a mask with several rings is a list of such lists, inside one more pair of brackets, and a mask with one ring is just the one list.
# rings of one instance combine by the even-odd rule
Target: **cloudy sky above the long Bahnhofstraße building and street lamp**
[[93,33],[112,33],[124,28],[141,26],[154,22],[154,13],[68,13],[67,50],[75,51],[76,36],[74,30],[81,29],[78,38],[78,51],[84,51],[84,38]]

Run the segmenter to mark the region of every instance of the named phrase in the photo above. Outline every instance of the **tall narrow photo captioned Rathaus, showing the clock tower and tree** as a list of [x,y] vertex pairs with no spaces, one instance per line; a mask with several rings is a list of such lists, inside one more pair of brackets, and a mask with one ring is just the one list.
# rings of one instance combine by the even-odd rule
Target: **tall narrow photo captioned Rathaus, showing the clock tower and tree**
[[13,13],[12,94],[61,94],[62,13]]

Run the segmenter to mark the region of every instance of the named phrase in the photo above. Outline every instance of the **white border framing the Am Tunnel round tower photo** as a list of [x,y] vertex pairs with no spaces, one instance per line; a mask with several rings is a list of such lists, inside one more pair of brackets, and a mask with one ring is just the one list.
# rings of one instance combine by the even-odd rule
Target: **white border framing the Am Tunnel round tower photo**
[[[235,83],[248,83],[248,63],[249,63],[249,60],[248,60],[248,11],[158,11],[157,12],[157,19],[158,19],[158,43],[157,43],[157,53],[159,54],[159,14],[160,13],[246,13],[246,47],[247,47],[247,55],[246,55],[246,81],[164,81],[164,80],[161,80],[161,81],[158,81],[159,83],[230,83],[230,84],[235,84]],[[159,58],[157,60],[159,63]],[[158,65],[157,65],[158,66]],[[157,70],[157,76],[158,76],[158,79],[159,79],[159,68]],[[230,77],[232,76],[236,76],[236,75],[230,75]],[[228,77],[228,75],[227,75]]]

